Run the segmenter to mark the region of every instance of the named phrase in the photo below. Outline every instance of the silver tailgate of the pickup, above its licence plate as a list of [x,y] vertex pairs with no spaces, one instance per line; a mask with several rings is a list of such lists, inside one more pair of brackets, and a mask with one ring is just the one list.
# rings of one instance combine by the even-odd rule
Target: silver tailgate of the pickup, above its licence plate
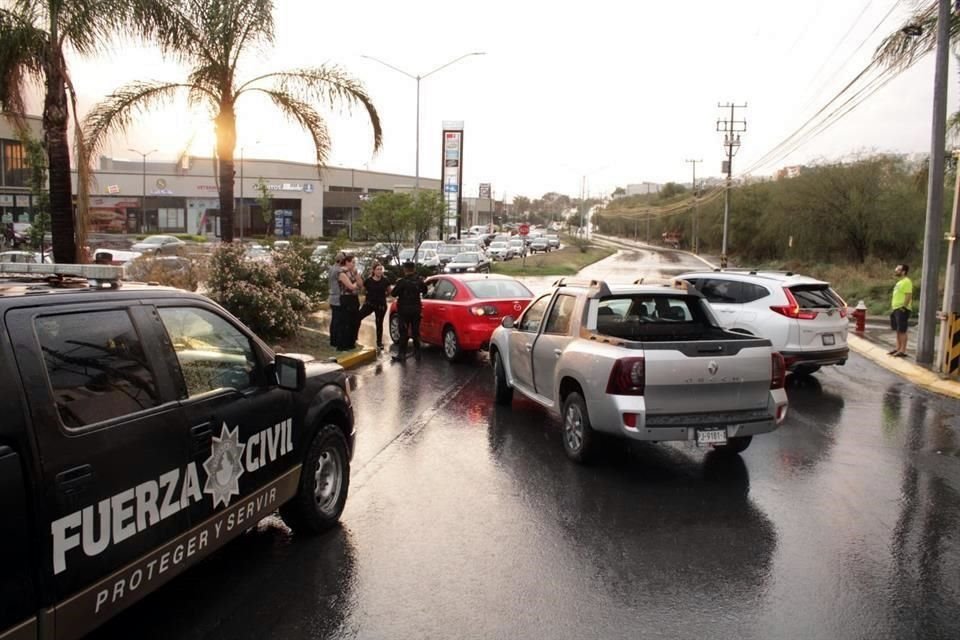
[[765,409],[771,359],[765,341],[644,345],[648,414]]

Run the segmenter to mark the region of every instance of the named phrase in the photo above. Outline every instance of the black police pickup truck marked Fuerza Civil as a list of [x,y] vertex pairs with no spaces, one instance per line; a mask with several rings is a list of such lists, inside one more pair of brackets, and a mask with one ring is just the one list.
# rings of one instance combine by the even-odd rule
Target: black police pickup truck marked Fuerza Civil
[[343,511],[343,369],[121,273],[0,265],[0,640],[80,637],[277,509]]

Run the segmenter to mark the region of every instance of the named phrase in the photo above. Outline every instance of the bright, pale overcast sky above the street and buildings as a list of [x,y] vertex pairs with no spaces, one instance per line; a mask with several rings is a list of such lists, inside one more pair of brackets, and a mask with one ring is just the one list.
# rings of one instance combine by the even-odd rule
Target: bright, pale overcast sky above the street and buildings
[[[609,193],[627,183],[689,181],[687,158],[704,160],[698,175],[720,175],[718,102],[748,103],[737,113],[747,132],[734,171],[750,166],[862,69],[912,6],[903,0],[278,0],[276,47],[248,60],[241,73],[344,66],[377,105],[384,148],[371,154],[363,114],[331,114],[330,164],[412,174],[416,83],[362,56],[424,74],[483,51],[423,80],[421,174],[439,177],[441,123],[463,120],[466,195],[475,195],[480,182],[491,182],[498,198],[552,190],[576,195],[582,176],[592,193]],[[74,60],[72,69],[82,108],[133,79],[183,77],[147,46]],[[958,108],[956,77],[949,76],[951,111]],[[858,151],[926,152],[932,87],[928,57],[758,173]],[[241,103],[238,114],[238,156],[242,145],[247,157],[312,159],[306,134],[271,106]],[[194,154],[211,153],[209,118],[171,106],[145,116],[107,153],[134,158],[128,147],[157,148],[151,159],[173,159],[191,139]]]

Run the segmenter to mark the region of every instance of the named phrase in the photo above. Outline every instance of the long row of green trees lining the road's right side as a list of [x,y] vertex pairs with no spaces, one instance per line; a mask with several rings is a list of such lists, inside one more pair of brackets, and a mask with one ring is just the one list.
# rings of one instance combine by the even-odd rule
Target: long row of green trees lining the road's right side
[[[953,169],[951,169],[951,172]],[[735,186],[730,193],[727,252],[743,263],[800,260],[862,264],[870,257],[917,262],[923,251],[926,166],[876,154],[804,167],[793,178]],[[944,206],[949,228],[952,175]],[[595,217],[601,233],[657,241],[679,232],[691,248],[699,222],[701,253],[719,255],[723,189],[697,200],[677,190],[614,200]],[[681,192],[682,193],[682,192]],[[699,220],[697,220],[699,218]]]

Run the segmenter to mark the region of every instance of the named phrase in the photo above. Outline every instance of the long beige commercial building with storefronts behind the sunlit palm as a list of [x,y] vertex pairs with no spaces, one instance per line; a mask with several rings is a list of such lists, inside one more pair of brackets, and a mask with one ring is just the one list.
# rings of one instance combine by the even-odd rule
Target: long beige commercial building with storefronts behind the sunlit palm
[[[360,207],[377,193],[409,191],[414,177],[332,167],[319,174],[310,163],[244,158],[236,160],[234,234],[332,237],[353,235]],[[420,178],[421,189],[440,189]],[[274,215],[262,215],[264,190]],[[189,233],[220,235],[218,174],[212,158],[180,162],[101,157],[90,195],[94,233]]]

